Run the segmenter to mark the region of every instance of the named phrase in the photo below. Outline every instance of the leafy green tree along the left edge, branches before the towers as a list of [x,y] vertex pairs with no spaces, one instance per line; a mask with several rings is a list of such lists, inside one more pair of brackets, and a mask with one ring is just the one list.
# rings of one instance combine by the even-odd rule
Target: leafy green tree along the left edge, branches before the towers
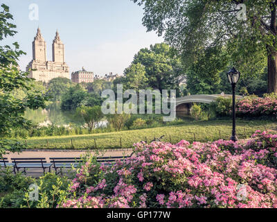
[[[0,41],[6,37],[12,37],[17,33],[9,7],[2,4],[0,7]],[[30,121],[24,119],[27,108],[37,109],[45,107],[44,95],[32,89],[33,79],[27,78],[28,73],[19,70],[18,60],[25,54],[15,42],[12,46],[0,46],[0,157],[6,151],[20,151],[23,144],[13,141],[8,137],[10,130],[17,127],[28,127]],[[16,96],[14,90],[22,89],[26,93],[24,98]]]

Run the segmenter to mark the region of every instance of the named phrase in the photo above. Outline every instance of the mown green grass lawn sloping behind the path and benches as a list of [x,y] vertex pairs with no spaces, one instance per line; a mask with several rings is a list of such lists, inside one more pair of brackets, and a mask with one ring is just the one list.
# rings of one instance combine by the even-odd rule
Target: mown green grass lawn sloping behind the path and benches
[[[277,122],[261,120],[238,120],[237,133],[239,139],[250,137],[256,130],[277,130]],[[165,126],[143,130],[129,130],[116,133],[99,133],[93,135],[32,137],[26,139],[28,147],[43,149],[93,149],[95,148],[132,148],[135,142],[150,142],[154,137],[161,137],[164,142],[177,143],[181,139],[189,142],[211,142],[217,139],[229,139],[232,132],[232,122],[227,120],[197,121],[178,126]],[[195,139],[194,139],[195,138]],[[72,144],[71,144],[72,139]],[[121,145],[120,145],[121,139]],[[25,141],[25,140],[24,140]]]

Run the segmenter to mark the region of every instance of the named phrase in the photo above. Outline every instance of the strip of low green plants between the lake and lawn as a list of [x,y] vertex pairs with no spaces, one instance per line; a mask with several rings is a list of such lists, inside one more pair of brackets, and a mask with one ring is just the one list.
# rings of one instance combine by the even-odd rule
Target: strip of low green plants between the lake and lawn
[[[80,110],[82,107],[77,108]],[[94,110],[98,109],[94,107],[83,106],[84,109]],[[62,136],[62,135],[89,135],[96,133],[111,133],[118,130],[134,130],[134,129],[146,129],[146,128],[157,128],[161,126],[175,126],[176,124],[184,124],[190,119],[176,119],[173,122],[164,122],[162,115],[156,114],[130,114],[130,115],[107,115],[107,120],[105,117],[102,119],[102,113],[98,113],[100,119],[98,121],[93,120],[93,125],[90,123],[90,114],[85,120],[78,111],[73,114],[75,121],[80,121],[80,124],[69,123],[68,125],[60,126],[57,124],[49,124],[48,126],[39,126],[33,124],[28,128],[15,128],[10,131],[8,137],[10,138],[21,138],[26,139],[28,137],[49,137],[49,136]],[[93,111],[94,112],[94,111]],[[86,114],[87,115],[87,114]],[[127,118],[125,118],[127,117]],[[94,118],[94,117],[93,117]],[[100,122],[102,119],[102,123]],[[88,121],[88,123],[86,123]],[[100,123],[100,124],[98,124]],[[89,125],[92,128],[89,128]],[[97,127],[95,127],[97,125]]]

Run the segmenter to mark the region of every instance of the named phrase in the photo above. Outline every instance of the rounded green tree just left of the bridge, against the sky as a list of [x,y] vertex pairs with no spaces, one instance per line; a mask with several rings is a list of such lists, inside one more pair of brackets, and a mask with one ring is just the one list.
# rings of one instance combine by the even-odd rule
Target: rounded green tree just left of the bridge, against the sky
[[176,89],[178,95],[185,78],[181,59],[165,43],[141,49],[124,74],[125,89]]

